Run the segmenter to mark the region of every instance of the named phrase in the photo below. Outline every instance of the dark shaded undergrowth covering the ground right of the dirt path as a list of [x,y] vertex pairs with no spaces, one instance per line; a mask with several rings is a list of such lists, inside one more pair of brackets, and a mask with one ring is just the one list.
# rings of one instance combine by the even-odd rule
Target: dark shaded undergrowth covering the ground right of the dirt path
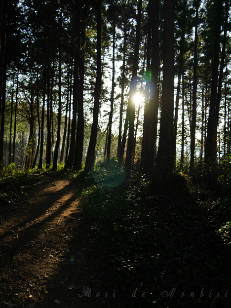
[[176,176],[164,190],[135,175],[120,189],[83,190],[108,273],[105,307],[210,307],[218,292],[217,307],[231,305],[230,199],[198,200],[184,183]]

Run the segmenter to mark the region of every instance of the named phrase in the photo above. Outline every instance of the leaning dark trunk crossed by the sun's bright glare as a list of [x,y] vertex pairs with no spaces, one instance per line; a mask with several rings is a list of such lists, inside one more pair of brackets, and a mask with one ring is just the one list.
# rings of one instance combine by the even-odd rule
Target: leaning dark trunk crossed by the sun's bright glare
[[135,104],[133,102],[133,96],[136,93],[137,85],[137,71],[139,63],[139,49],[140,49],[140,30],[141,30],[141,11],[142,11],[142,0],[138,1],[137,21],[136,21],[136,40],[135,50],[133,58],[132,77],[129,90],[128,98],[128,140],[127,140],[127,153],[125,158],[125,169],[127,176],[130,176],[132,171],[132,164],[134,162],[134,122],[135,122]]

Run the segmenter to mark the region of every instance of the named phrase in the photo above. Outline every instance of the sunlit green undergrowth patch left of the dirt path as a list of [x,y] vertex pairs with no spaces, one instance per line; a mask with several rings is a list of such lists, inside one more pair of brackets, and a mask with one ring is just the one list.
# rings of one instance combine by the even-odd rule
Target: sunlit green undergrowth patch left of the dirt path
[[14,164],[0,173],[0,205],[15,202],[41,181],[37,170],[18,171]]

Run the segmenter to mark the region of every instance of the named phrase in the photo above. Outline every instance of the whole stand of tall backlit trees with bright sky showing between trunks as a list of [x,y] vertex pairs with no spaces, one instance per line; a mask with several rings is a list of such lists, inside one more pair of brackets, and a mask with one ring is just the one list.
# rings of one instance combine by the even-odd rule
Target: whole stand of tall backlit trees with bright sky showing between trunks
[[1,0],[0,169],[216,164],[230,57],[229,0]]

